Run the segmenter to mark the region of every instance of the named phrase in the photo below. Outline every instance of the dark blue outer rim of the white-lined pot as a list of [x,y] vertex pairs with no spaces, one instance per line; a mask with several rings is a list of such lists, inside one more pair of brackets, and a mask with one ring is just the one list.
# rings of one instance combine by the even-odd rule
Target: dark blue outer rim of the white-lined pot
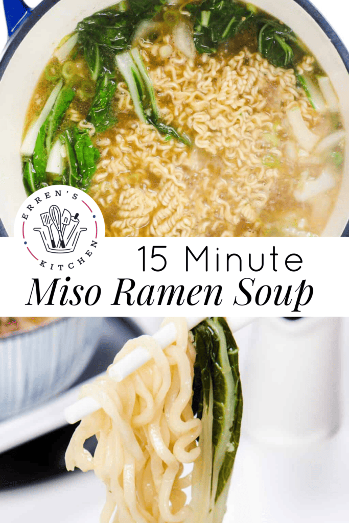
[[[112,2],[112,0],[110,0]],[[311,18],[316,21],[318,26],[322,29],[325,35],[329,38],[330,42],[333,44],[337,53],[340,55],[340,58],[345,66],[345,69],[349,73],[349,51],[344,45],[342,39],[337,35],[336,31],[333,29],[328,20],[322,15],[316,6],[314,6],[309,0],[291,0],[298,4],[303,10],[305,10]],[[54,5],[58,4],[60,0],[42,0],[40,4],[30,12],[30,15],[25,18],[22,24],[19,26],[17,31],[9,38],[7,45],[5,47],[4,53],[0,60],[0,81],[6,71],[6,68],[12,59],[15,51],[19,47],[20,43],[29,31],[37,24],[37,22],[45,15]],[[349,130],[348,130],[349,132]],[[0,221],[1,226],[1,221]],[[0,231],[0,236],[3,233]],[[349,236],[349,220],[344,228],[342,236]]]

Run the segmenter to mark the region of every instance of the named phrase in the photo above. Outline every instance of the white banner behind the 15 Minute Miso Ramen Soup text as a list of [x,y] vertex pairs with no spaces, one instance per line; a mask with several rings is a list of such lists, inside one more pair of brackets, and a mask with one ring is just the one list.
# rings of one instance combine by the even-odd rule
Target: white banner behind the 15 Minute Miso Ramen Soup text
[[[348,259],[349,242],[339,238],[103,238],[99,240],[96,251],[88,263],[79,265],[74,260],[74,269],[66,266],[60,271],[57,267],[51,270],[50,264],[44,268],[26,251],[22,239],[0,238],[0,274],[17,274],[16,289],[11,278],[2,281],[0,293],[0,316],[348,316],[349,294]],[[142,246],[146,247],[146,270],[143,272]],[[165,270],[156,272],[152,266],[163,266],[162,258],[151,260],[152,246],[165,245],[166,248],[156,247],[157,251],[165,254],[167,266]],[[188,272],[186,271],[186,248],[190,248],[198,258],[200,253],[208,249],[208,272],[203,256],[195,261],[188,255]],[[273,267],[271,253],[275,247],[277,256]],[[216,271],[216,253],[219,250],[221,263]],[[295,253],[301,257],[303,263],[300,270],[296,263],[286,268],[285,260]],[[73,253],[74,254],[74,253]],[[229,260],[227,272],[227,254],[237,256]],[[264,267],[261,268],[262,254]],[[53,256],[53,255],[51,255]],[[73,256],[73,255],[66,255]],[[251,256],[251,267],[249,258]],[[86,258],[87,259],[87,258]],[[291,258],[294,259],[294,258]],[[68,261],[72,261],[70,258]],[[54,263],[54,260],[50,261]],[[159,265],[160,264],[160,265]],[[276,269],[276,270],[275,270]],[[63,285],[67,283],[67,294],[61,302]],[[40,298],[47,292],[46,298],[38,305],[37,294],[33,290],[33,279],[39,280]],[[49,296],[52,290],[53,279],[59,278],[52,303]],[[116,301],[117,289],[121,285],[119,303]],[[130,289],[130,280],[134,281],[134,289]],[[252,300],[247,304],[246,294],[239,288],[240,281],[244,280],[243,287],[251,294]],[[253,286],[252,286],[252,281]],[[313,287],[313,298],[306,304],[309,292],[305,289],[300,303],[304,306],[296,308],[298,288],[305,280],[305,286]],[[175,298],[167,304],[169,290],[161,302],[161,288],[175,288],[184,286],[184,293],[180,306]],[[77,304],[73,289],[78,288],[81,302]],[[85,303],[87,290],[91,291],[91,299]],[[101,289],[100,299],[94,305],[96,286]],[[150,288],[152,293],[150,295]],[[197,286],[201,286],[199,290]],[[211,296],[207,303],[208,286],[211,287]],[[216,304],[217,287],[222,292]],[[267,287],[269,299],[267,301]],[[285,296],[290,286],[288,304]],[[142,291],[144,287],[144,290]],[[278,288],[281,293],[277,296]],[[193,289],[190,298],[190,290]],[[215,289],[213,291],[213,289]],[[260,298],[258,299],[258,289]],[[126,290],[130,292],[130,302],[126,300]],[[87,294],[86,294],[87,292]],[[147,302],[150,295],[149,303]],[[31,297],[31,298],[30,298]],[[140,298],[138,300],[138,297]],[[189,299],[190,298],[190,299]],[[71,304],[67,300],[71,300]],[[221,300],[221,302],[220,302]],[[277,300],[277,302],[275,302]],[[64,303],[66,301],[66,303]],[[139,301],[139,302],[138,302]],[[236,301],[236,303],[235,303]],[[28,305],[26,305],[28,303]],[[292,314],[291,314],[292,313]]]

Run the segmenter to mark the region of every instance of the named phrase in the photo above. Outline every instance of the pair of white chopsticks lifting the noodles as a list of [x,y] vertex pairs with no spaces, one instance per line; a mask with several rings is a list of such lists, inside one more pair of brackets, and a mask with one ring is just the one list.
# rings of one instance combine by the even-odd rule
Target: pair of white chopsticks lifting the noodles
[[[196,325],[206,319],[205,317],[187,317],[188,331],[194,328]],[[240,328],[251,323],[254,317],[227,317],[228,325],[232,332],[237,332]],[[168,323],[155,333],[152,337],[159,342],[162,349],[165,349],[168,345],[171,345],[176,339],[177,331],[174,323]],[[125,358],[112,365],[108,374],[116,382],[120,382],[130,376],[132,372],[142,367],[145,363],[150,361],[151,356],[147,349],[144,347],[137,347],[132,350]],[[92,414],[100,409],[99,403],[92,397],[85,397],[82,400],[78,400],[70,407],[67,407],[64,411],[65,419],[68,423],[74,424],[80,421],[83,417],[88,414]]]

